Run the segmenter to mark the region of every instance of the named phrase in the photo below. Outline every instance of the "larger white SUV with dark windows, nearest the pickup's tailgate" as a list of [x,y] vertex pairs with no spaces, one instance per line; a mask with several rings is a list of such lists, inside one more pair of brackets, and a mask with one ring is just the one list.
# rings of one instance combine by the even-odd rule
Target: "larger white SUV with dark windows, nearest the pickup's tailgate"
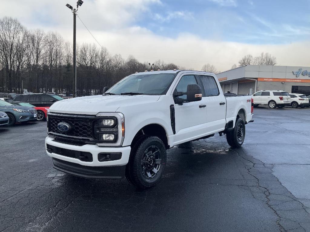
[[268,105],[270,109],[290,105],[290,94],[280,90],[262,90],[253,94],[254,106]]

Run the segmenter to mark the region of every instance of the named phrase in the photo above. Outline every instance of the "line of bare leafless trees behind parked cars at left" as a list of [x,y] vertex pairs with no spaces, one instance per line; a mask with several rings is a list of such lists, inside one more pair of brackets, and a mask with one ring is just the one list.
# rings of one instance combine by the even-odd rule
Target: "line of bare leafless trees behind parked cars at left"
[[[27,30],[17,19],[0,19],[0,92],[73,92],[73,45],[57,32]],[[171,70],[158,60],[153,70]],[[135,72],[150,71],[134,56],[110,54],[105,47],[77,45],[78,92],[98,94]]]

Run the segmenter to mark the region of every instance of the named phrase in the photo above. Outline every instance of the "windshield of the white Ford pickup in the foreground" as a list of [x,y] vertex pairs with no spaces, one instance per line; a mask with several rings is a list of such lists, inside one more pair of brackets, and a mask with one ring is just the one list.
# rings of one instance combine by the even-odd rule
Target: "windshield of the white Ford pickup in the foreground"
[[175,73],[130,75],[108,90],[108,93],[141,93],[145,95],[163,95],[168,91]]

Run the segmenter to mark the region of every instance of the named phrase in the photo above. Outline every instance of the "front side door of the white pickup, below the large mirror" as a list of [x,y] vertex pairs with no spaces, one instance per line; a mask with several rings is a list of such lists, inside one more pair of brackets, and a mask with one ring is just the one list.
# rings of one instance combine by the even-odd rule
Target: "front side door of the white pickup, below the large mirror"
[[[174,91],[186,92],[189,84],[198,84],[195,75],[181,76]],[[179,98],[187,99],[187,95],[184,94]],[[175,145],[202,137],[206,133],[207,109],[203,100],[185,102],[183,105],[174,104],[174,108]]]

